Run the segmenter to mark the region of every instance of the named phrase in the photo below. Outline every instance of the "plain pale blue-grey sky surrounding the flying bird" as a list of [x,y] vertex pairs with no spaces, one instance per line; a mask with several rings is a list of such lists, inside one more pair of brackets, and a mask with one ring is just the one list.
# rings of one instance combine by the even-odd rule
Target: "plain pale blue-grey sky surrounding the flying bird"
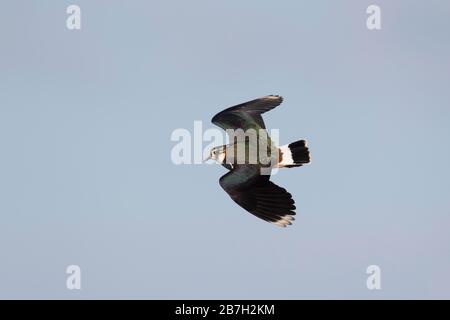
[[[0,298],[450,298],[449,15],[439,0],[4,1]],[[285,229],[231,201],[223,167],[171,159],[174,130],[268,94],[284,103],[267,127],[312,156],[272,178],[296,201]]]

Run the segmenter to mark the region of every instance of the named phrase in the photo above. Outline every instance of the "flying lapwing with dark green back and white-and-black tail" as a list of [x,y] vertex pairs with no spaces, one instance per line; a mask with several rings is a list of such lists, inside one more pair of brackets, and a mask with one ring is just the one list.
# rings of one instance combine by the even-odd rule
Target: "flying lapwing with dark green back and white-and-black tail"
[[219,184],[234,202],[262,220],[286,227],[295,220],[295,201],[270,180],[272,169],[300,167],[311,159],[306,140],[283,146],[272,142],[261,115],[282,102],[283,97],[268,95],[217,113],[211,122],[227,132],[230,143],[213,147],[205,160],[228,170]]

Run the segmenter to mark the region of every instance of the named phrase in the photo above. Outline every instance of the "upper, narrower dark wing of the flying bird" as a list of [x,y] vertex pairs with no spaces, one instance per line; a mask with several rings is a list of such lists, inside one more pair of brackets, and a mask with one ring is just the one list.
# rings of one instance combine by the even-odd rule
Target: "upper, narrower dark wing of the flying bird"
[[280,96],[266,96],[225,109],[212,118],[212,123],[227,129],[265,129],[261,114],[283,102]]

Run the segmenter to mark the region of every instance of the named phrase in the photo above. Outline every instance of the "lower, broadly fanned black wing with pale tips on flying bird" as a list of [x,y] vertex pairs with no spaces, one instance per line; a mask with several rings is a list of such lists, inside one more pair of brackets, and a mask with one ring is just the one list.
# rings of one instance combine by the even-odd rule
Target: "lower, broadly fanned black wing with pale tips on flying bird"
[[236,166],[220,178],[220,186],[238,205],[265,221],[286,227],[295,215],[294,200],[286,189],[260,175],[260,167]]

